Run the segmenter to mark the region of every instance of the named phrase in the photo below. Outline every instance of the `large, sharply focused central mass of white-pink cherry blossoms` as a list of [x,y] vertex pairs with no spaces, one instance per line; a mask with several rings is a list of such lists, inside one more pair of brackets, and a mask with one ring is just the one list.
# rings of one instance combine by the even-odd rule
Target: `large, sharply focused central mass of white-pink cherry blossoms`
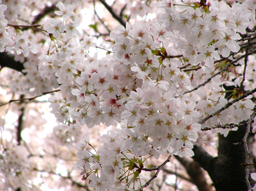
[[[231,51],[239,51],[237,40],[241,39],[239,33],[245,34],[250,11],[243,10],[240,3],[229,6],[223,1],[194,7],[171,6],[162,1],[159,7],[157,19],[151,25],[135,22],[132,26],[129,23],[126,27],[117,26],[111,32],[115,41],[112,50],[116,52],[113,58],[88,59],[84,71],[75,79],[78,89],[73,89],[72,94],[76,95],[80,108],[68,107],[73,120],[89,127],[121,124],[121,129],[101,137],[103,146],[97,153],[93,154],[86,146],[88,138],[78,143],[81,148],[75,166],[82,169],[84,178],[89,177],[93,188],[113,189],[113,185],[124,188],[122,180],[131,182],[123,178],[127,176],[125,167],[133,173],[133,184],[126,188],[131,189],[131,185],[132,189],[139,188],[137,172],[141,170],[141,156],[157,159],[167,152],[180,157],[193,156],[193,144],[200,144],[199,119],[228,102],[220,93],[220,85],[225,83],[220,77],[215,77],[196,95],[191,93],[193,101],[186,91],[216,72],[214,63],[220,56],[228,57]],[[182,70],[186,65],[201,69],[186,73]],[[208,95],[208,89],[216,93]],[[247,120],[251,109],[252,101],[246,99],[203,125]],[[219,129],[219,132],[227,136],[229,130]],[[136,158],[136,165],[130,168],[132,158]],[[99,174],[99,170],[100,176],[91,175]]]

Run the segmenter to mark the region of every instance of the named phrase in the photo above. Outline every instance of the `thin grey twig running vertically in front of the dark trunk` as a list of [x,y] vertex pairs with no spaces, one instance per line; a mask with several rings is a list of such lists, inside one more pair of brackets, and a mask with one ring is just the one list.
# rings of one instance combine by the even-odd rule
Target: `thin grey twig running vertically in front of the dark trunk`
[[251,185],[249,182],[249,177],[250,177],[250,172],[249,172],[249,157],[250,157],[250,151],[248,148],[248,143],[247,143],[247,138],[249,136],[250,133],[250,129],[251,129],[251,123],[254,121],[254,117],[256,115],[256,104],[254,105],[253,108],[253,113],[250,116],[250,120],[247,121],[247,126],[246,126],[246,133],[245,136],[242,139],[243,142],[243,146],[245,147],[245,182],[247,184],[247,188],[248,190],[251,190]]

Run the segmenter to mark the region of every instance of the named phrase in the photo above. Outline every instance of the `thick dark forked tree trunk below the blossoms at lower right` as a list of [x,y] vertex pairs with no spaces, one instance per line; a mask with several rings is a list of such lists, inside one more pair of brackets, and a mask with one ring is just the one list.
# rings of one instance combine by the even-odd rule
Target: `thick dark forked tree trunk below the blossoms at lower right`
[[245,161],[245,149],[241,142],[245,127],[230,132],[227,137],[219,136],[218,157],[211,157],[203,148],[194,147],[192,157],[204,168],[214,182],[216,191],[247,191],[245,169],[241,164]]

